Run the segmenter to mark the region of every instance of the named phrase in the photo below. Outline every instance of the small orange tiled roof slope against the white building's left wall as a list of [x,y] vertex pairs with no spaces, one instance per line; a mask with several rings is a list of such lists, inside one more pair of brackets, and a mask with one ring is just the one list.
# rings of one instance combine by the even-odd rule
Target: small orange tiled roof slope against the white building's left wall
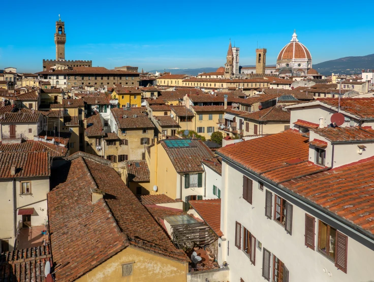
[[189,201],[189,203],[217,236],[224,235],[221,231],[221,199]]

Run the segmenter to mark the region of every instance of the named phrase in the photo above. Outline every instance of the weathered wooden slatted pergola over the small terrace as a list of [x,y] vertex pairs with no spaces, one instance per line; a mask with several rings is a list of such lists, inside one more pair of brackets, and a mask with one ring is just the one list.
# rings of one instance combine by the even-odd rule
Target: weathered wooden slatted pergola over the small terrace
[[172,237],[179,249],[184,246],[204,246],[212,243],[216,236],[205,222],[178,224],[172,226]]

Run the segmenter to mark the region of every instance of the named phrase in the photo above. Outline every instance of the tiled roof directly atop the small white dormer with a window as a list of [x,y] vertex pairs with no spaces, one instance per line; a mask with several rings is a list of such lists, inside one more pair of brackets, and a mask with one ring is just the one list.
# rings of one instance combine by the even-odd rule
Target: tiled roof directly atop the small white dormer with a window
[[313,128],[311,131],[325,137],[331,142],[371,141],[374,140],[374,130],[359,127],[325,127]]

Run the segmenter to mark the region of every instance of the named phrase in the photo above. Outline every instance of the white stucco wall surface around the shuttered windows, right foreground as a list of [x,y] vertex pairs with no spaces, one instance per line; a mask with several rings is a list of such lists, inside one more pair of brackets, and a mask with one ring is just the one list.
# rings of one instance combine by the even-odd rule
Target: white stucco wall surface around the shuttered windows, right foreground
[[[247,174],[250,177],[249,174]],[[252,177],[251,177],[252,178]],[[258,189],[258,182],[253,180],[253,204],[242,199],[243,174],[235,167],[223,163],[223,183],[225,193],[222,195],[221,230],[224,241],[219,248],[219,264],[227,261],[230,267],[230,281],[262,281],[262,256],[266,248],[282,260],[289,269],[289,281],[371,281],[374,277],[372,261],[374,252],[352,237],[348,238],[347,274],[338,270],[334,262],[318,251],[306,248],[304,244],[305,210],[293,204],[292,235],[286,233],[284,226],[273,219],[265,217],[265,190]],[[289,199],[287,199],[289,200]],[[274,193],[273,193],[274,201]],[[301,205],[302,206],[302,205]],[[274,204],[272,207],[274,211]],[[256,248],[256,263],[242,250],[235,247],[235,222],[238,221],[262,243],[262,250]],[[339,228],[337,228],[339,230]],[[342,230],[339,230],[344,233]],[[316,223],[316,248],[318,224]],[[242,242],[241,242],[242,243]],[[372,244],[371,244],[372,246]],[[229,254],[228,254],[229,252]],[[272,267],[272,260],[271,260]],[[325,272],[326,271],[326,272]],[[270,271],[272,275],[272,268]],[[329,276],[329,273],[331,276]],[[272,278],[271,278],[272,279]]]

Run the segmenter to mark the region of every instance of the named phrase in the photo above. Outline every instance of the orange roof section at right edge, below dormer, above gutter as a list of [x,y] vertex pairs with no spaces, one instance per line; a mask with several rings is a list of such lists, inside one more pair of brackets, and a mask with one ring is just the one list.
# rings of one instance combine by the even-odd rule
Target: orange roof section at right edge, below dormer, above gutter
[[283,184],[374,234],[374,159],[361,160]]

